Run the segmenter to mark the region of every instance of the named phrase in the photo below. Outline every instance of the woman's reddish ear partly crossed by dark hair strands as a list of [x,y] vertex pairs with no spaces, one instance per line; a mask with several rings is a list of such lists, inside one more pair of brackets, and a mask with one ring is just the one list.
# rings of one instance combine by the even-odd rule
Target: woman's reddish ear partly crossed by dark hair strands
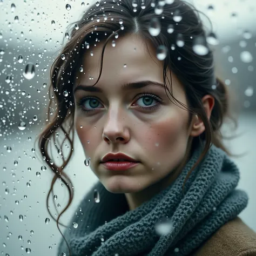
[[[204,110],[206,112],[208,120],[210,120],[211,114],[212,114],[212,109],[214,106],[214,97],[211,95],[205,95],[202,98],[202,102],[204,105]],[[205,131],[205,125],[203,121],[198,117],[198,115],[194,115],[192,118],[192,124],[191,124],[191,131],[190,131],[190,136],[192,137],[197,137],[201,133]]]

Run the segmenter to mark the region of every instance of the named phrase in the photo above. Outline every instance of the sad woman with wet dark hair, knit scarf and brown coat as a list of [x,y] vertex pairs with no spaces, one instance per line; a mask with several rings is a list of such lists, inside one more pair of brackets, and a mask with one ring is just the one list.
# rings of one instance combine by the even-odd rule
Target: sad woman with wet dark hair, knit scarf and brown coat
[[[56,114],[39,140],[55,173],[48,198],[62,178],[72,201],[64,167],[75,130],[99,181],[58,255],[256,255],[256,235],[237,217],[248,197],[235,189],[239,170],[220,132],[227,89],[193,6],[97,2],[66,37],[51,69]],[[59,128],[71,144],[62,166],[48,151]]]

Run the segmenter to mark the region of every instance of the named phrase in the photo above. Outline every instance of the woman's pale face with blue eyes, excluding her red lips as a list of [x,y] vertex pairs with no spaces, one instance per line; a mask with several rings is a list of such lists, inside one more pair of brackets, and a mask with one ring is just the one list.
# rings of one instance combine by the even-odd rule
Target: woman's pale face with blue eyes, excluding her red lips
[[[102,47],[103,43],[91,45],[83,72],[77,72],[75,102],[83,101],[75,107],[76,131],[86,158],[91,158],[92,171],[108,191],[139,192],[167,177],[184,158],[190,136],[188,112],[174,105],[160,86],[163,62],[150,45],[149,55],[138,36],[119,37],[116,46],[111,42],[106,46],[102,75],[93,86],[97,91],[89,91],[99,76]],[[142,81],[147,86],[124,88]],[[187,105],[183,86],[174,75],[172,87],[173,96]],[[107,153],[120,152],[139,163],[123,171],[100,163]]]

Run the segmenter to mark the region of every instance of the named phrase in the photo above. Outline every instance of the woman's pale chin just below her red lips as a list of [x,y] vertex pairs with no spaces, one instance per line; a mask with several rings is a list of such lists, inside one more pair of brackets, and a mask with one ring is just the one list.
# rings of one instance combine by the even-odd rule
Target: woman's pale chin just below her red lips
[[102,184],[111,193],[136,193],[144,188],[136,179],[124,176],[109,177]]

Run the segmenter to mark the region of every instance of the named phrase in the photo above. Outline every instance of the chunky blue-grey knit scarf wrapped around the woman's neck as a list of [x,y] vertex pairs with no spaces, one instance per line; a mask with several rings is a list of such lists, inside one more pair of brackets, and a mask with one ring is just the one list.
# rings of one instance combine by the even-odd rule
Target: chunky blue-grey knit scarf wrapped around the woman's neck
[[[201,150],[193,152],[169,187],[135,210],[129,211],[124,194],[111,193],[99,182],[93,186],[64,232],[71,255],[191,255],[248,203],[247,194],[235,189],[239,181],[237,166],[214,145],[191,173],[183,194],[186,174]],[[94,200],[95,190],[100,197],[98,203]],[[163,227],[165,233],[159,233]],[[63,239],[58,255],[69,255]]]

